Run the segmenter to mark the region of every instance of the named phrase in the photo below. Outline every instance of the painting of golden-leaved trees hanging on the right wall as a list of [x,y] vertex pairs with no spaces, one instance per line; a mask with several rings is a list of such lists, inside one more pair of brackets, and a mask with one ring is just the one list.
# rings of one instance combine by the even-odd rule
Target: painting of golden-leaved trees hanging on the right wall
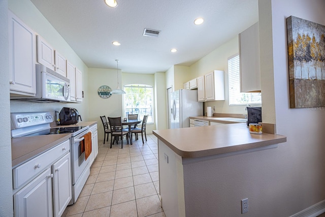
[[325,26],[286,19],[290,108],[325,106]]

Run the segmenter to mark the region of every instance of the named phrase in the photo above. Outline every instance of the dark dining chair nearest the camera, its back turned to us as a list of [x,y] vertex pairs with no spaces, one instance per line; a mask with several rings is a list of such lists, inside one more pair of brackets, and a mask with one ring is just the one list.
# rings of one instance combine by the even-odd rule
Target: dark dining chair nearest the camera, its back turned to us
[[[123,148],[123,136],[126,136],[126,141],[128,144],[128,139],[131,138],[128,134],[128,129],[122,128],[122,119],[121,117],[108,117],[108,122],[110,123],[110,129],[111,129],[111,148],[113,144],[113,137],[116,141],[116,144],[118,144],[118,137],[121,137],[121,145]],[[122,130],[121,130],[122,129]],[[131,140],[130,140],[131,141]]]

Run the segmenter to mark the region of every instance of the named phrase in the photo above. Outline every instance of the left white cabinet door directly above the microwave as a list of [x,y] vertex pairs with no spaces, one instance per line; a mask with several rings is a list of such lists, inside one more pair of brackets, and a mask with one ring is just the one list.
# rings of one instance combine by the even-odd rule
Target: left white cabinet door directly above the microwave
[[37,36],[37,61],[55,71],[54,49],[39,35]]

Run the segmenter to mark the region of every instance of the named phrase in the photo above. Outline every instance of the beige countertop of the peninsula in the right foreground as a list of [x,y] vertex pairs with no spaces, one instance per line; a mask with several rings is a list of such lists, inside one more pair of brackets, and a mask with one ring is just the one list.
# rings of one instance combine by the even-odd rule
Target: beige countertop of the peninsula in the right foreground
[[286,142],[277,134],[251,134],[246,123],[154,130],[153,134],[183,158],[199,158]]

